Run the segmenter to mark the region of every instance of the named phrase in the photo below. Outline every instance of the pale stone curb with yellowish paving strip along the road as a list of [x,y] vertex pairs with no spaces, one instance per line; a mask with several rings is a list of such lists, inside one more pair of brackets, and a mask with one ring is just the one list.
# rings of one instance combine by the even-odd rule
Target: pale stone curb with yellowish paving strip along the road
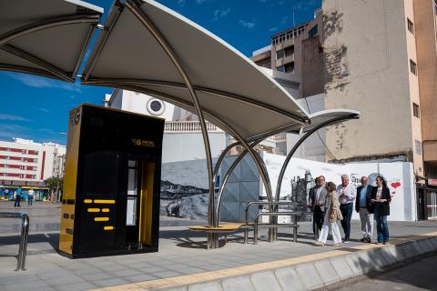
[[392,241],[388,246],[345,247],[316,255],[98,290],[316,290],[437,251],[437,233]]

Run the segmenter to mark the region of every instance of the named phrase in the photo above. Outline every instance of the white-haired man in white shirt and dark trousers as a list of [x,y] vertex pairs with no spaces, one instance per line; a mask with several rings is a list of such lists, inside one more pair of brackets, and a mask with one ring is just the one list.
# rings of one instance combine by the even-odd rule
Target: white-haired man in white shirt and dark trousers
[[341,227],[344,231],[344,242],[349,243],[351,238],[351,217],[353,212],[353,201],[357,196],[357,189],[349,184],[349,176],[341,175],[341,185],[337,187],[337,195],[340,200],[340,211],[343,216]]

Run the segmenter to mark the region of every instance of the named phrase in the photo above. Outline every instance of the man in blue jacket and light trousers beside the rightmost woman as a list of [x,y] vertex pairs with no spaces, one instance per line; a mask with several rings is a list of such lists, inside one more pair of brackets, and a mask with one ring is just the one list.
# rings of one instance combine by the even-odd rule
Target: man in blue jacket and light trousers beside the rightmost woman
[[361,242],[371,243],[373,229],[373,215],[371,214],[371,188],[367,176],[361,176],[361,186],[357,188],[355,211],[360,214]]

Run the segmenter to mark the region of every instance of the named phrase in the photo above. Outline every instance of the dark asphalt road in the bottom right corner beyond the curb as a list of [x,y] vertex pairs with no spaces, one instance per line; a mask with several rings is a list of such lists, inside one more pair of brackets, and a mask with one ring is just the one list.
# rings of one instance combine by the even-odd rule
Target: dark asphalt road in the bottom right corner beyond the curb
[[387,271],[336,290],[388,291],[437,290],[437,254],[429,255],[407,266]]

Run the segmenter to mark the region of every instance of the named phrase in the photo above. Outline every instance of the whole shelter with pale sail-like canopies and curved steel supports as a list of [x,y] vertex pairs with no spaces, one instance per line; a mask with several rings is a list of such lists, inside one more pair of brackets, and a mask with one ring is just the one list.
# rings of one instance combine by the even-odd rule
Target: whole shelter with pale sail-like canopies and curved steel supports
[[[245,55],[182,15],[151,0],[117,0],[104,25],[103,10],[76,0],[16,0],[0,9],[0,69],[74,82],[92,35],[99,28],[81,75],[83,85],[99,85],[152,95],[198,115],[207,158],[208,225],[219,226],[219,206],[231,171],[243,156],[255,162],[269,201],[279,201],[280,185],[298,146],[320,128],[359,117],[331,109],[309,114],[285,88]],[[212,163],[205,120],[228,132],[236,143]],[[270,181],[254,146],[279,133],[300,135]],[[229,150],[244,150],[215,180]],[[272,193],[271,183],[278,183]],[[269,236],[274,240],[274,232]],[[208,244],[218,247],[217,234]]]

